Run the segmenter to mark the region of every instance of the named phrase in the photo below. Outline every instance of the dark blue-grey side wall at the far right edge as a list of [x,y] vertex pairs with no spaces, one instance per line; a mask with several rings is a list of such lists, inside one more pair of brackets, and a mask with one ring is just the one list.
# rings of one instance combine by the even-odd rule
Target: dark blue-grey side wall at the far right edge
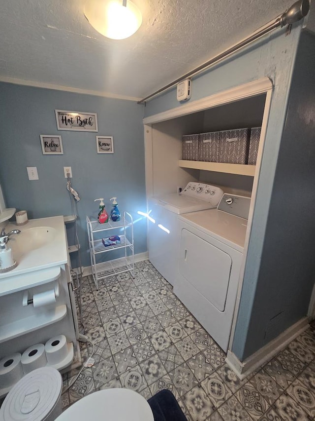
[[[307,315],[314,286],[315,36],[294,66],[244,357]],[[266,303],[268,305],[266,305]],[[236,336],[243,327],[237,325]]]

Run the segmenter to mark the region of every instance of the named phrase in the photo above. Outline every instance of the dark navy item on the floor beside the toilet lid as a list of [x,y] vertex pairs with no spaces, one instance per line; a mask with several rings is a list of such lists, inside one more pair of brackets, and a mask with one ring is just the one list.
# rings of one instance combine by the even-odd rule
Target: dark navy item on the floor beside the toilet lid
[[175,396],[167,389],[160,390],[148,399],[154,421],[187,421]]

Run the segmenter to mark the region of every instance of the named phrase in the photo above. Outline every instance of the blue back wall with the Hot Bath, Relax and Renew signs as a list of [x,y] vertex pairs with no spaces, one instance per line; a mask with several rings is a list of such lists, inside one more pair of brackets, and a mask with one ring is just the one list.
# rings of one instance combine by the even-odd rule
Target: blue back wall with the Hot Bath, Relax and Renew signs
[[[98,132],[57,130],[55,109],[97,113]],[[147,250],[145,210],[143,106],[133,101],[0,83],[0,182],[7,207],[26,209],[29,219],[70,215],[64,166],[71,166],[77,204],[82,264],[90,266],[86,215],[97,215],[98,202],[117,196],[119,208],[137,219],[135,253]],[[40,134],[61,135],[63,155],[43,155]],[[114,153],[97,154],[95,136],[113,136]],[[29,181],[27,166],[39,180]],[[14,218],[13,218],[14,220]],[[74,243],[73,229],[68,230]],[[72,266],[79,266],[71,255]]]

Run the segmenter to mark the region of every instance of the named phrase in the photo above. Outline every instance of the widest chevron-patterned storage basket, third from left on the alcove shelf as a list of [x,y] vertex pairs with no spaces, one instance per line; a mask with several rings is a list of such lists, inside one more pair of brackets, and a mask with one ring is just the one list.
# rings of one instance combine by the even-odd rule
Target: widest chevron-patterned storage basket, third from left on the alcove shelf
[[223,130],[219,134],[219,162],[247,164],[250,129]]

